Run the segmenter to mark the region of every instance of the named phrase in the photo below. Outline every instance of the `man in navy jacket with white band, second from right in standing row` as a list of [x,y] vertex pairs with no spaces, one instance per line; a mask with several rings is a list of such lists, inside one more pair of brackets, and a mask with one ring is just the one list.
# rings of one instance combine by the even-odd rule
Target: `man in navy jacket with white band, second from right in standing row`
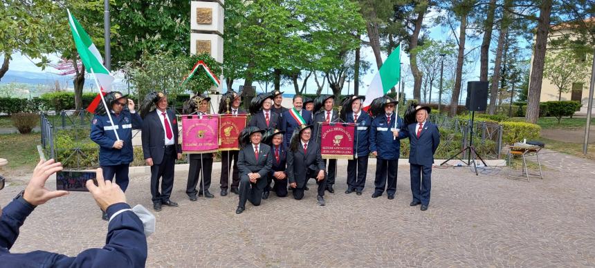
[[[391,97],[382,97],[384,113],[377,115],[370,128],[370,151],[376,156],[376,189],[372,198],[378,198],[385,191],[388,199],[393,200],[396,194],[396,171],[399,167],[401,139],[407,135],[404,131],[403,119],[396,116],[394,106],[399,103]],[[396,122],[396,124],[395,124]]]

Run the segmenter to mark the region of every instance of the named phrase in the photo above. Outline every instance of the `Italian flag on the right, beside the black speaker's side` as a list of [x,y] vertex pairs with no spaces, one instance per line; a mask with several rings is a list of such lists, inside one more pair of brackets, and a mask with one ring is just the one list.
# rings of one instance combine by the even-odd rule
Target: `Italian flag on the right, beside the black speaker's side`
[[367,111],[374,99],[386,95],[396,83],[399,83],[399,79],[401,79],[401,45],[397,46],[390,53],[380,67],[380,70],[378,70],[378,73],[374,75],[372,83],[370,83],[366,92],[366,99],[363,105],[365,111]]

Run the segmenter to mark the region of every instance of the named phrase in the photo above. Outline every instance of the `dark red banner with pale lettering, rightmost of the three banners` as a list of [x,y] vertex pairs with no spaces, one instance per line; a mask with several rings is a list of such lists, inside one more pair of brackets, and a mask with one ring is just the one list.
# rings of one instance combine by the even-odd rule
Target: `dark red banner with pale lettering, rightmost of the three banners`
[[324,159],[354,159],[355,124],[322,123],[320,153]]

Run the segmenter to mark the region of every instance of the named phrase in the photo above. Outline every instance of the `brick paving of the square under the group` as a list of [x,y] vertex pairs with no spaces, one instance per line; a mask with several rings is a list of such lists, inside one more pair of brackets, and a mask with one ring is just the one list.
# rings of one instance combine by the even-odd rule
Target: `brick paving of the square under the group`
[[[565,155],[550,156],[567,159]],[[372,199],[370,166],[364,195],[346,195],[346,162],[336,194],[318,207],[310,182],[304,200],[271,198],[235,215],[237,195],[190,202],[187,173],[176,173],[172,200],[156,212],[147,267],[593,267],[595,172],[549,169],[544,180],[508,180],[504,170],[475,176],[469,169],[434,169],[428,211],[409,207],[409,167],[399,166],[394,200]],[[589,173],[589,174],[587,174]],[[134,175],[130,204],[151,207],[149,175]],[[0,191],[6,204],[23,186]],[[38,207],[12,252],[35,249],[73,256],[104,244],[106,223],[88,193]]]

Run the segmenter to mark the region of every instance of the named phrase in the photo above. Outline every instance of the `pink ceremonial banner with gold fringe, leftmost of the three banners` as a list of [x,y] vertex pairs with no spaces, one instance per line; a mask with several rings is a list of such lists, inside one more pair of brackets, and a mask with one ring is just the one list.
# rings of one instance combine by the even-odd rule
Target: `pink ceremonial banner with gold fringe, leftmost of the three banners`
[[182,116],[182,151],[184,153],[214,153],[217,151],[218,115]]

